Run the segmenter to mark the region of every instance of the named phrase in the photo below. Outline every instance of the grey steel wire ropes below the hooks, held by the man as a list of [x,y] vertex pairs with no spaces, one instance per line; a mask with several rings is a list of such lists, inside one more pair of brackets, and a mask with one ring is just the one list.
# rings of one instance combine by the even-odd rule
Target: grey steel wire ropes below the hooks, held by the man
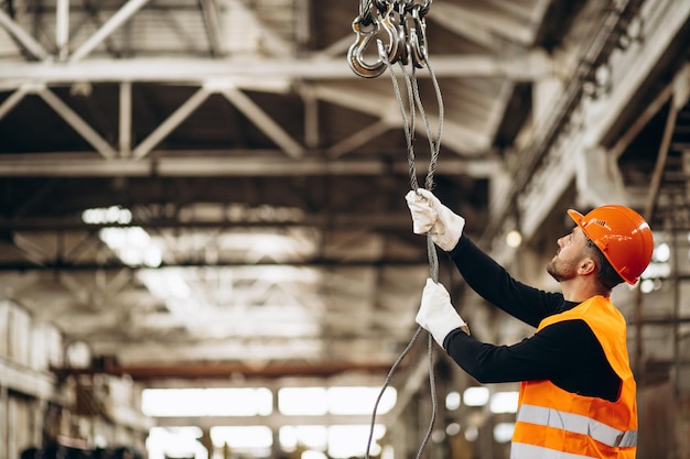
[[[429,145],[431,150],[431,159],[429,161],[429,170],[427,173],[427,177],[424,179],[424,187],[431,190],[433,188],[433,175],[435,173],[439,153],[441,150],[441,134],[443,131],[443,118],[444,118],[443,98],[441,95],[441,88],[439,86],[439,81],[436,79],[435,74],[433,73],[433,69],[429,65],[427,56],[424,56],[424,64],[425,64],[427,69],[429,70],[429,75],[432,80],[438,105],[439,105],[439,128],[434,138],[434,135],[431,132],[431,122],[429,121],[429,117],[427,116],[427,112],[423,108],[423,103],[422,103],[421,96],[419,92],[419,85],[418,85],[417,77],[416,77],[417,74],[414,70],[414,66],[412,66],[412,75],[410,76],[405,65],[402,63],[399,63],[399,67],[402,70],[403,79],[407,86],[409,108],[406,109],[405,102],[402,100],[402,95],[400,91],[400,85],[398,83],[398,78],[395,75],[392,64],[387,58],[386,50],[384,48],[384,45],[380,41],[378,42],[378,53],[379,53],[381,61],[386,63],[388,72],[391,76],[393,91],[396,94],[396,99],[398,101],[398,107],[400,109],[400,114],[402,118],[402,128],[405,131],[405,138],[406,138],[406,143],[407,143],[408,163],[410,167],[410,185],[414,192],[419,189],[419,184],[417,181],[417,167],[414,164],[413,133],[414,133],[414,124],[416,124],[416,114],[414,114],[416,110],[419,110],[420,116],[424,120],[427,138],[429,140]],[[406,110],[409,110],[409,116]],[[435,244],[433,242],[433,239],[431,238],[431,233],[427,234],[427,254],[429,258],[431,278],[434,282],[438,282],[439,281],[439,259],[438,259],[438,253],[435,250]],[[392,367],[388,371],[386,380],[384,381],[381,390],[379,391],[379,394],[374,404],[374,411],[371,413],[369,438],[367,441],[367,449],[365,453],[366,459],[370,458],[370,448],[371,448],[371,442],[374,440],[374,429],[376,426],[376,415],[377,415],[378,405],[381,401],[381,397],[384,396],[386,389],[388,389],[388,386],[390,385],[390,381],[392,380],[393,374],[398,370],[398,367],[400,367],[400,363],[402,362],[402,360],[410,352],[410,350],[417,342],[417,339],[419,338],[422,330],[423,328],[421,326],[417,327],[417,330],[412,335],[412,338],[410,339],[406,348],[402,350],[400,356],[398,356]],[[430,385],[430,393],[431,393],[431,401],[432,401],[431,419],[429,422],[429,427],[427,429],[427,433],[424,434],[424,438],[422,439],[422,442],[420,444],[416,459],[421,458],[422,453],[424,452],[424,449],[427,448],[427,445],[429,444],[429,439],[431,438],[431,434],[433,431],[433,426],[435,424],[435,418],[438,414],[436,383],[435,383],[435,375],[433,372],[433,337],[431,336],[431,334],[429,334],[429,337],[428,337],[428,358],[429,358],[429,385]]]

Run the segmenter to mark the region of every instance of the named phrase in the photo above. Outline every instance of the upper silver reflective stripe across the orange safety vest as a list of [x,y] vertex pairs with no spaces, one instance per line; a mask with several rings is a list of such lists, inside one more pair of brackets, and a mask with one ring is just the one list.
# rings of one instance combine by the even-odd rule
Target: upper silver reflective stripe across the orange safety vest
[[612,448],[628,448],[637,445],[637,430],[618,430],[586,416],[543,406],[520,406],[517,420],[586,435]]

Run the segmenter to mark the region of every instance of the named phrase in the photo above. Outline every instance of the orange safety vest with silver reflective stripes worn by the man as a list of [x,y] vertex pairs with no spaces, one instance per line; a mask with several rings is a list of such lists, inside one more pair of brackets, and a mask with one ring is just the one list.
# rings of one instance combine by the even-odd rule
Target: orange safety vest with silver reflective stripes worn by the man
[[522,382],[510,459],[635,458],[636,384],[628,361],[625,319],[611,299],[594,296],[547,317],[537,331],[572,319],[582,319],[590,326],[623,381],[618,400],[578,395],[549,380]]

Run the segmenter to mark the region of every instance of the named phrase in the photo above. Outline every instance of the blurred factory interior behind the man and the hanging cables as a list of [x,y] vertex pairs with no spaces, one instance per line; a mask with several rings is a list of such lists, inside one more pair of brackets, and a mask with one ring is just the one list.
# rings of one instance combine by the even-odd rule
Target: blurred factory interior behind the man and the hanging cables
[[[547,289],[567,208],[648,219],[653,263],[614,294],[638,458],[690,458],[690,2],[428,6],[436,195]],[[0,459],[365,456],[429,262],[390,74],[348,66],[359,8],[0,0]],[[421,117],[414,136],[423,183]],[[443,254],[440,280],[479,339],[533,332]],[[373,457],[417,455],[427,352],[384,393]],[[434,362],[428,457],[507,458],[517,385]]]

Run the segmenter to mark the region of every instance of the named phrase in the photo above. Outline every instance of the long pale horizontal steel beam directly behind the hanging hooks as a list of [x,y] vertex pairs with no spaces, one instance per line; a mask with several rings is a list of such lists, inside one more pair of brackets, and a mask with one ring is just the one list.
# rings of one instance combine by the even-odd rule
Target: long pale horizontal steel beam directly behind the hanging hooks
[[[439,78],[506,77],[519,81],[540,79],[553,74],[552,62],[543,52],[524,56],[434,55],[430,58]],[[418,78],[428,78],[419,72]],[[226,80],[237,87],[254,79],[358,79],[343,58],[272,57],[225,59],[205,58],[131,58],[69,63],[8,63],[0,67],[0,89],[17,88],[26,81],[46,85],[73,81],[155,81],[198,84],[208,79]]]

